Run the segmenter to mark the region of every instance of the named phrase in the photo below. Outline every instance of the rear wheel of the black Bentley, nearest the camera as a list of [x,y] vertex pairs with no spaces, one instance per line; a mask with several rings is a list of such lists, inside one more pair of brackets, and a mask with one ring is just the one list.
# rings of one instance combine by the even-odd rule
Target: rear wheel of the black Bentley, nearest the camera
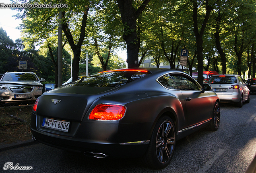
[[173,156],[176,143],[176,129],[170,117],[161,117],[153,129],[149,147],[142,162],[153,169],[163,169]]

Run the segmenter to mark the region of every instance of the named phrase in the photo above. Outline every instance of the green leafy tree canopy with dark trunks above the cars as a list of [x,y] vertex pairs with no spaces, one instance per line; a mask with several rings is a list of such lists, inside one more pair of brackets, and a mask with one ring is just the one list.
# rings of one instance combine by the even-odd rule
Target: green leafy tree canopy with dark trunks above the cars
[[[62,0],[62,3],[68,4],[68,8],[27,8],[17,17],[23,19],[20,29],[25,48],[33,44],[53,48],[57,46],[58,11],[63,10],[62,46],[72,51],[75,76],[85,53],[97,55],[101,68],[106,70],[116,50],[126,47],[128,68],[150,58],[157,66],[163,63],[182,70],[180,50],[185,48],[189,50],[187,72],[196,68],[200,84],[203,70],[255,77],[255,0]],[[7,40],[6,51],[13,45],[7,44]]]

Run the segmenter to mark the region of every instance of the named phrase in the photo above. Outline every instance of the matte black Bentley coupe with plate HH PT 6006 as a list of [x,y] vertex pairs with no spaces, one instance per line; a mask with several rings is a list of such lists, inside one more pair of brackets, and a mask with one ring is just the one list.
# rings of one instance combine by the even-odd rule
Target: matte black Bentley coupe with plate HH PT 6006
[[219,98],[210,89],[178,70],[109,70],[41,95],[31,132],[52,147],[98,158],[141,157],[161,169],[178,139],[219,128]]

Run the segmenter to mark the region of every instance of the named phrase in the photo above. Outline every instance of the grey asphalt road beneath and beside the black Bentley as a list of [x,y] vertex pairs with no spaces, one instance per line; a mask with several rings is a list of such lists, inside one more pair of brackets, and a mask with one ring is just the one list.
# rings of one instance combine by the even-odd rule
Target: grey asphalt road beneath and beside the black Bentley
[[[4,173],[245,173],[256,155],[256,94],[242,108],[221,104],[216,132],[201,129],[176,143],[171,163],[162,170],[138,159],[96,159],[41,143],[0,152]],[[3,170],[8,162],[29,170]],[[32,168],[32,169],[31,169]]]

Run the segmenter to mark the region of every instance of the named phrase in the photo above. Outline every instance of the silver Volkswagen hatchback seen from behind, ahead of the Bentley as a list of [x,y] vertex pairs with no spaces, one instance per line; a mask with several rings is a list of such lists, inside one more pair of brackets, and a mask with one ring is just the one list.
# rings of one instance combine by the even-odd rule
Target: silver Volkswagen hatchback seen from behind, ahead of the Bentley
[[242,107],[243,102],[250,103],[250,91],[243,78],[237,74],[213,75],[208,84],[221,102],[235,103],[238,107]]

